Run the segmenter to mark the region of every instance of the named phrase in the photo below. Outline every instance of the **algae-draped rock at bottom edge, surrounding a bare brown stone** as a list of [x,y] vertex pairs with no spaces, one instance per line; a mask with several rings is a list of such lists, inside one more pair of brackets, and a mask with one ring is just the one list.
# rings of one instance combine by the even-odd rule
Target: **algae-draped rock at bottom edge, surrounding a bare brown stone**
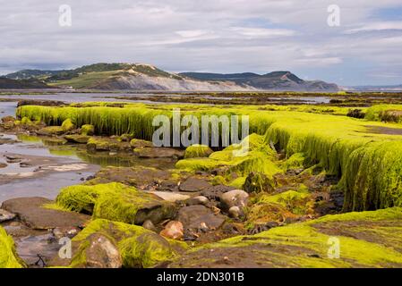
[[[154,267],[171,261],[187,248],[184,242],[166,240],[141,226],[98,219],[73,238],[73,259],[70,266],[97,266],[94,256],[91,256],[91,261],[87,259],[91,253],[90,241],[93,241],[94,236],[108,240],[110,249],[115,246],[125,268]],[[114,259],[111,261],[115,261],[114,265],[117,265],[118,256],[113,252],[112,257]],[[98,260],[102,260],[102,257],[98,257]]]

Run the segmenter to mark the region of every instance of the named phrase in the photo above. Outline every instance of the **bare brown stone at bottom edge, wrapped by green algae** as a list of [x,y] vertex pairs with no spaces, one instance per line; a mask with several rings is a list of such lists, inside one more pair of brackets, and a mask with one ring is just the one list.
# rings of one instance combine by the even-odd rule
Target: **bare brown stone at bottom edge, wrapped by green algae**
[[122,257],[106,236],[94,233],[88,238],[90,247],[85,250],[85,268],[121,268]]

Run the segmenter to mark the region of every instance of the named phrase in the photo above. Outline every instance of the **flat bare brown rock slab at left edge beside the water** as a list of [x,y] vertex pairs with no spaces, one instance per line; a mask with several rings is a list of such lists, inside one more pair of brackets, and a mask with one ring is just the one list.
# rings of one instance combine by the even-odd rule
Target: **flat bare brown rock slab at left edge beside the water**
[[30,228],[49,230],[57,227],[79,227],[90,220],[89,215],[64,212],[43,207],[54,203],[47,198],[12,198],[3,202],[2,208],[16,214]]

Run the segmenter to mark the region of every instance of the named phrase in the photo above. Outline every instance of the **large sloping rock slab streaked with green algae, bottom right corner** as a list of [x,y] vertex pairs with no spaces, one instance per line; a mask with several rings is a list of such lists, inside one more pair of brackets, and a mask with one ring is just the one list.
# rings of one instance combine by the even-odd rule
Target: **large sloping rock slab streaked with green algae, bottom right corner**
[[327,215],[204,245],[169,267],[402,267],[401,234],[398,207]]

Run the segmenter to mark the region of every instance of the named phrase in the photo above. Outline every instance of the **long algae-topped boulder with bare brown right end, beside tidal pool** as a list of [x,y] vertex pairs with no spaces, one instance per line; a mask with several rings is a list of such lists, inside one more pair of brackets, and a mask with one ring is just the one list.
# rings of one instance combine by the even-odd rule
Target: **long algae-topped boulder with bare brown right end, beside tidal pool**
[[175,205],[158,196],[121,183],[77,185],[61,190],[56,198],[68,210],[116,222],[159,223],[175,215]]

